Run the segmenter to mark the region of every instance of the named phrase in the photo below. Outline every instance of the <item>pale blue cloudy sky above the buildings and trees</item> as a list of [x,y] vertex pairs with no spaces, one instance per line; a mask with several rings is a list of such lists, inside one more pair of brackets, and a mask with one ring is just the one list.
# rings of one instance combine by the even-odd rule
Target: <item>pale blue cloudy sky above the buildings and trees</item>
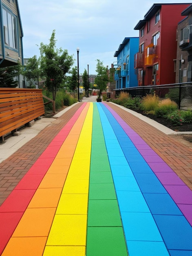
[[57,48],[74,55],[76,66],[79,47],[79,73],[89,63],[89,74],[96,74],[97,59],[110,67],[124,38],[139,36],[134,27],[154,3],[182,2],[192,0],[18,0],[24,58],[39,57],[37,45],[49,44],[55,29]]

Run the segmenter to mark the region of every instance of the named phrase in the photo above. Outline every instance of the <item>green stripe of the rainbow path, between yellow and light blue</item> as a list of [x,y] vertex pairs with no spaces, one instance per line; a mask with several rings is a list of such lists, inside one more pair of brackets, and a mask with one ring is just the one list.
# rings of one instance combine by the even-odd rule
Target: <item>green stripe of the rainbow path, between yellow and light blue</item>
[[128,253],[99,112],[93,103],[86,256],[98,255]]

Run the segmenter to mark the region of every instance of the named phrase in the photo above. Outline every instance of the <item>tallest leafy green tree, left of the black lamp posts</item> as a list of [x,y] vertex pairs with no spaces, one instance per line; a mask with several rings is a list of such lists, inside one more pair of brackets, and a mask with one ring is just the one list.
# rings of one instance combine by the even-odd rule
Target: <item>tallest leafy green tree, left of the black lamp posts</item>
[[55,30],[53,30],[49,45],[40,44],[40,68],[41,76],[46,77],[46,87],[53,94],[55,100],[56,90],[70,71],[74,63],[73,56],[68,55],[68,51],[56,48]]

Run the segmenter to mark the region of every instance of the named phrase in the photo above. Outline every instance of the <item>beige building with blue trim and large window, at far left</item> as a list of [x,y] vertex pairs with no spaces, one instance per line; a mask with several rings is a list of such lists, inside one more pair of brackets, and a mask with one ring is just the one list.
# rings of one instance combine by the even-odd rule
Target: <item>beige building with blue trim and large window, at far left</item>
[[18,0],[0,0],[0,67],[23,65],[22,24]]

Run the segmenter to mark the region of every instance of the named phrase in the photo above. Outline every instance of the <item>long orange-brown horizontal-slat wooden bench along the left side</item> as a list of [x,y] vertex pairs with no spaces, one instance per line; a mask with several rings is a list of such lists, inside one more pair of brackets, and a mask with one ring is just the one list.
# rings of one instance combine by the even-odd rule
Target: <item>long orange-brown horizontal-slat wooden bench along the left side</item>
[[42,115],[42,90],[0,88],[0,141],[4,140],[4,135]]

